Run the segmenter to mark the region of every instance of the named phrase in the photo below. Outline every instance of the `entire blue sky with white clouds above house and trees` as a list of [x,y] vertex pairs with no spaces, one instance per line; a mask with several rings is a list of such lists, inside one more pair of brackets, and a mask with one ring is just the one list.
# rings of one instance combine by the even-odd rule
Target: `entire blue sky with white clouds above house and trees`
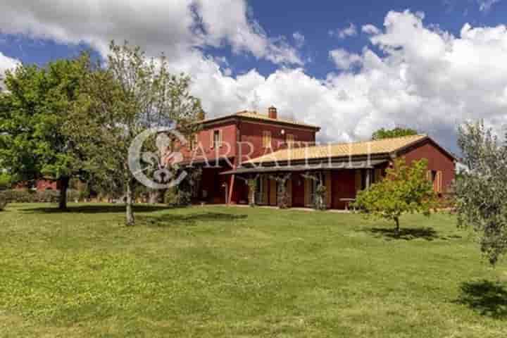
[[507,124],[507,0],[6,0],[0,74],[127,39],[192,77],[208,116],[278,108],[319,142]]

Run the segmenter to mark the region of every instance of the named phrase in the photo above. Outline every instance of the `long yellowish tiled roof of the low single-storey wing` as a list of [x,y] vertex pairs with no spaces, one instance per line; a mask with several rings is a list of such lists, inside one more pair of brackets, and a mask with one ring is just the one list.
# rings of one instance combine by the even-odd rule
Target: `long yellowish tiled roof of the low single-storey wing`
[[392,139],[380,139],[377,141],[365,141],[354,143],[327,144],[322,146],[301,146],[281,149],[273,153],[253,158],[247,163],[269,163],[282,161],[298,161],[308,158],[329,158],[346,157],[375,154],[389,154],[394,151],[410,146],[416,142],[426,139],[426,135],[413,135],[406,137],[396,137]]

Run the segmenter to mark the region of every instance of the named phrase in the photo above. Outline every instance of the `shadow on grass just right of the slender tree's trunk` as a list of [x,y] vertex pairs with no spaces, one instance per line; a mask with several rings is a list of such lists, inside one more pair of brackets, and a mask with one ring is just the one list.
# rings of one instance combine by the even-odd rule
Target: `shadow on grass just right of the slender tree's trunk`
[[231,215],[229,213],[194,213],[189,215],[137,216],[136,225],[152,227],[171,227],[175,225],[196,225],[197,222],[213,222],[242,220],[247,215]]

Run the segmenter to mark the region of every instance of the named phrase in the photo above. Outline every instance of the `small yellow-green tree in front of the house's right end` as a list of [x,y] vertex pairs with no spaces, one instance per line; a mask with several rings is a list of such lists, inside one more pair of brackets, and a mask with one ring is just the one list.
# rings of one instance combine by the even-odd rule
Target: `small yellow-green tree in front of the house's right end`
[[404,158],[397,158],[393,168],[387,169],[384,180],[358,193],[354,206],[365,215],[394,221],[399,233],[401,215],[429,216],[436,201],[432,182],[427,179],[427,161],[422,159],[408,165]]

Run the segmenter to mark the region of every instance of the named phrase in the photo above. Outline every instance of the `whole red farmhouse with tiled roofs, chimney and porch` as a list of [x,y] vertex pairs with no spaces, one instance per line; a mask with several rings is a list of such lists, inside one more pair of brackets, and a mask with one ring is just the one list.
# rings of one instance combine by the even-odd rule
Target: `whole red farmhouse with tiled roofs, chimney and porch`
[[203,175],[194,199],[211,204],[247,204],[247,178],[258,180],[256,204],[277,205],[275,176],[289,177],[289,206],[313,206],[315,180],[327,187],[327,207],[346,208],[361,189],[380,180],[394,158],[427,158],[428,179],[445,194],[454,180],[455,158],[426,135],[347,144],[315,145],[320,127],[242,111],[202,121],[185,162],[200,165]]

